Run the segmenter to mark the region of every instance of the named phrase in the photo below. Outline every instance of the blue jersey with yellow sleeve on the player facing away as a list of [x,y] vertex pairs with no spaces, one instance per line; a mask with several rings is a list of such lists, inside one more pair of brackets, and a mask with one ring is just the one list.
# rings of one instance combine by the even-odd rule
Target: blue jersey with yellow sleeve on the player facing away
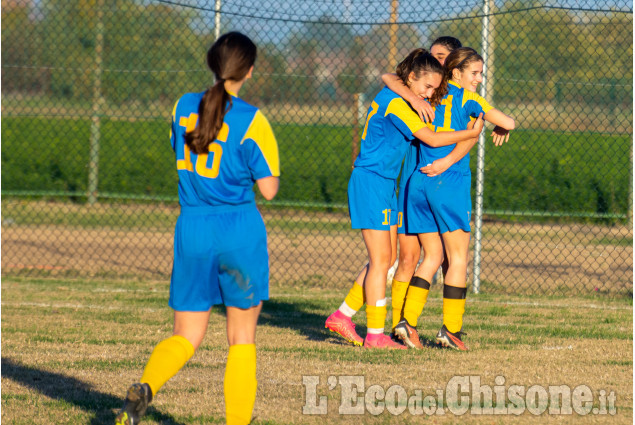
[[232,95],[209,153],[197,155],[185,144],[185,133],[198,123],[205,93],[187,93],[174,105],[170,138],[179,174],[182,206],[243,205],[255,202],[254,182],[279,176],[278,144],[258,108]]

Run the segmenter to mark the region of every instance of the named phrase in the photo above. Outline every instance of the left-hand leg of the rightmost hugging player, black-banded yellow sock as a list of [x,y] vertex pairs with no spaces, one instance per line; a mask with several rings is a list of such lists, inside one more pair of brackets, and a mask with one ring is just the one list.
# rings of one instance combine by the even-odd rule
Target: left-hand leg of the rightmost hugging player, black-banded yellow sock
[[443,245],[438,233],[422,233],[419,241],[423,248],[423,261],[410,281],[403,315],[395,327],[395,334],[411,348],[422,348],[416,331],[417,321],[428,299],[432,276],[443,261]]

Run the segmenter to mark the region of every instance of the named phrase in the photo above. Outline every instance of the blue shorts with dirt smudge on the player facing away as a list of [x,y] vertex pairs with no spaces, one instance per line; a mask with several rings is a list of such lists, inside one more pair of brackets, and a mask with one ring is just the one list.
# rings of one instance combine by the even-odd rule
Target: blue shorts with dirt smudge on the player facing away
[[181,208],[174,232],[170,307],[250,308],[268,299],[267,231],[256,205]]

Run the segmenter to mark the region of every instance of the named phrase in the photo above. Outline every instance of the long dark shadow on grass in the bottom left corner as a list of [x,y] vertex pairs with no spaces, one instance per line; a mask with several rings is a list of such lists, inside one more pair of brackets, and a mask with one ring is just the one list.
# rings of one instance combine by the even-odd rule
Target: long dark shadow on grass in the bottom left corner
[[[114,409],[123,404],[122,397],[104,393],[91,384],[55,372],[23,365],[14,359],[2,357],[2,377],[31,388],[54,400],[63,400],[93,415],[90,425],[112,425]],[[145,415],[163,425],[184,425],[171,415],[161,413],[152,406]]]

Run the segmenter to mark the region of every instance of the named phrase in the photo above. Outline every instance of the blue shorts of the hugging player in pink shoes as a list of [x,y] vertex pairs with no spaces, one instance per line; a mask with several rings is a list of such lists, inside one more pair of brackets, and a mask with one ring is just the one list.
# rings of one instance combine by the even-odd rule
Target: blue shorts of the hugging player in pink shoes
[[390,230],[397,224],[397,182],[354,168],[348,181],[348,212],[353,229]]

